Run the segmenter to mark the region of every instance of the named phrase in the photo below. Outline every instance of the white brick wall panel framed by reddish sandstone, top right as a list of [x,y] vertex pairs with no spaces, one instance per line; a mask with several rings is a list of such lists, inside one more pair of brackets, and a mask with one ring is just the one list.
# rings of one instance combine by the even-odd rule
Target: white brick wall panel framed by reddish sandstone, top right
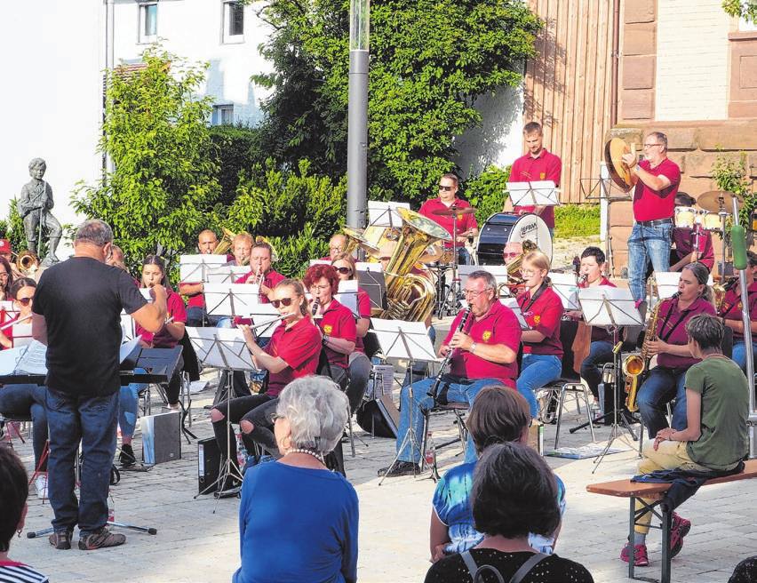
[[728,118],[730,17],[712,0],[657,3],[657,121]]

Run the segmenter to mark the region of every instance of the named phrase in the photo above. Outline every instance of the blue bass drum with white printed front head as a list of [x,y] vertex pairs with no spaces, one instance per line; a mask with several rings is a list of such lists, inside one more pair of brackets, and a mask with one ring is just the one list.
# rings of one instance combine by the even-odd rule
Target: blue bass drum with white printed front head
[[502,252],[508,243],[533,241],[552,261],[552,236],[544,220],[536,214],[493,214],[483,224],[476,244],[479,265],[504,265]]

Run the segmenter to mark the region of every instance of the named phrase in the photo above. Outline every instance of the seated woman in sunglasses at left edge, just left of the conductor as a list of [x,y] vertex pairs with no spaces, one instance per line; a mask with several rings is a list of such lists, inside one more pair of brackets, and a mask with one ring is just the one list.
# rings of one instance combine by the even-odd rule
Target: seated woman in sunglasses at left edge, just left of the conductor
[[[30,277],[20,277],[13,282],[11,296],[19,309],[19,319],[31,315],[35,290],[36,281]],[[31,323],[31,319],[25,322]],[[12,347],[12,330],[10,327],[0,332],[0,337],[8,340],[8,347]],[[48,436],[46,395],[47,387],[40,387],[34,383],[5,385],[0,388],[0,413],[10,418],[30,416],[32,419],[32,447],[37,472],[34,483],[39,499],[47,498],[47,457],[44,456],[44,443],[47,442]]]

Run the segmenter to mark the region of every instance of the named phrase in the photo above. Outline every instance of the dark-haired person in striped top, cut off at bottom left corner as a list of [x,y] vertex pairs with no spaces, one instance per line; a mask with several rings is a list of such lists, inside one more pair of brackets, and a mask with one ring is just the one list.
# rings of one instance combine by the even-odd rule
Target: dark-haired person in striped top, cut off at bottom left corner
[[27,564],[8,558],[11,539],[27,517],[27,470],[12,447],[0,446],[0,581],[46,583],[49,579]]

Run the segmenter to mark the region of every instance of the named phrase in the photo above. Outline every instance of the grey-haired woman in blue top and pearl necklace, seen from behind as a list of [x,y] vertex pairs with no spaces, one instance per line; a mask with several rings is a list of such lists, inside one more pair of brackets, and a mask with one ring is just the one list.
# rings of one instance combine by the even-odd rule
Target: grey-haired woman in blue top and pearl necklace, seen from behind
[[279,395],[274,433],[282,458],[244,475],[242,566],[234,583],[357,579],[357,494],[323,463],[339,443],[348,407],[347,395],[326,377],[293,380]]

